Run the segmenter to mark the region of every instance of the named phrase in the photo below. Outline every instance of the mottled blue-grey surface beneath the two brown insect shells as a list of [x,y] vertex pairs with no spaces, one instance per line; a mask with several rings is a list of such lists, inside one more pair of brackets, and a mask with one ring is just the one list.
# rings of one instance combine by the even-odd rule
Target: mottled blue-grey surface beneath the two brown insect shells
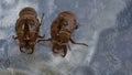
[[[41,19],[40,34],[50,38],[52,21],[62,11],[77,15],[73,34],[80,46],[70,43],[65,58],[52,53],[52,44],[36,44],[32,55],[19,51],[12,39],[19,11],[33,7]],[[0,0],[0,75],[132,75],[131,0]]]

